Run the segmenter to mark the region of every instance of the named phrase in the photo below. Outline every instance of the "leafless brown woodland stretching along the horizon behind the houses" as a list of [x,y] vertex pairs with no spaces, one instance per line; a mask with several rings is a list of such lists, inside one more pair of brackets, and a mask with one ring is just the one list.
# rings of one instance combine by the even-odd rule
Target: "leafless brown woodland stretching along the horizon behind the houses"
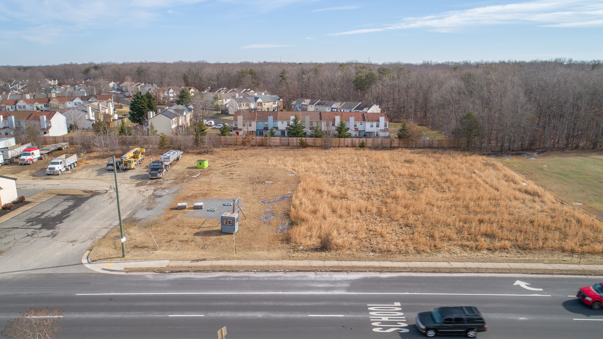
[[[0,67],[0,80],[140,81],[158,86],[251,87],[288,105],[297,97],[379,104],[390,121],[452,132],[478,117],[476,147],[493,151],[596,148],[603,135],[601,61],[459,63],[103,63]],[[40,85],[41,86],[41,85]],[[395,135],[396,131],[391,131]]]

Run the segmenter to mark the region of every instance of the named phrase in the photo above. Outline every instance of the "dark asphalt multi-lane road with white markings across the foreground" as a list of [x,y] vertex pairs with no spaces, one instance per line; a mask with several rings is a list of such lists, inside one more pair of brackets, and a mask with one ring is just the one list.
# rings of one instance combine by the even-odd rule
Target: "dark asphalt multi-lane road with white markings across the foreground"
[[[543,291],[528,291],[517,280]],[[572,295],[599,278],[428,274],[12,274],[0,276],[0,328],[31,306],[65,309],[62,338],[423,338],[417,312],[478,306],[481,338],[600,338],[603,311]],[[107,294],[115,293],[115,294]],[[540,295],[534,295],[538,293]],[[371,320],[400,303],[408,326]],[[187,315],[187,316],[183,316]],[[192,316],[191,316],[192,315]],[[203,316],[201,316],[203,315]],[[401,315],[399,315],[401,316]],[[373,317],[379,317],[373,315]],[[589,319],[589,320],[575,320]]]

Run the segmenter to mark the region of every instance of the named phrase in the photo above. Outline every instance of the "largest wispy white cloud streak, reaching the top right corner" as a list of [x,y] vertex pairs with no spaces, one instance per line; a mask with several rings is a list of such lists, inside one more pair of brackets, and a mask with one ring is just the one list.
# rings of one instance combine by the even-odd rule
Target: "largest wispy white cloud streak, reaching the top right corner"
[[382,28],[327,34],[370,33],[406,28],[428,28],[450,32],[464,27],[503,24],[536,24],[538,27],[598,27],[603,25],[603,1],[538,0],[507,5],[490,5],[437,15],[406,17],[399,24]]

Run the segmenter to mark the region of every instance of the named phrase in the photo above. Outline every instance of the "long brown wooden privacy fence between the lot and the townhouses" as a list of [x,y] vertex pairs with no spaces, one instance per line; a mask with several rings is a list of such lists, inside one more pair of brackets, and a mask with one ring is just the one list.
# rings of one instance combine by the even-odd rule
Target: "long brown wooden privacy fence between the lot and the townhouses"
[[[58,142],[69,142],[77,145],[77,136],[44,136],[45,144],[57,144]],[[98,138],[97,136],[89,136],[87,138]],[[120,136],[119,139],[127,142],[128,139],[136,138],[134,136]],[[156,139],[159,142],[159,136],[150,136],[144,138]],[[174,139],[177,137],[169,136],[171,144],[174,144]],[[242,145],[243,136],[208,136],[207,139],[212,141],[214,145]],[[390,147],[416,147],[416,148],[459,148],[463,147],[463,142],[459,139],[392,139],[392,138],[302,138],[310,146],[322,147],[324,143],[330,144],[330,147],[359,147],[364,141],[367,148],[390,148]],[[253,146],[299,146],[299,138],[264,138],[257,136],[251,142]]]

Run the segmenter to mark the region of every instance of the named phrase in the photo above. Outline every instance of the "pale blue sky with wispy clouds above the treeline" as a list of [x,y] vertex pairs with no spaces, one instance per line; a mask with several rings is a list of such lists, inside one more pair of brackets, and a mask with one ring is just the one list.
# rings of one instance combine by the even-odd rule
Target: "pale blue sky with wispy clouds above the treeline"
[[2,0],[0,65],[603,59],[603,0]]

